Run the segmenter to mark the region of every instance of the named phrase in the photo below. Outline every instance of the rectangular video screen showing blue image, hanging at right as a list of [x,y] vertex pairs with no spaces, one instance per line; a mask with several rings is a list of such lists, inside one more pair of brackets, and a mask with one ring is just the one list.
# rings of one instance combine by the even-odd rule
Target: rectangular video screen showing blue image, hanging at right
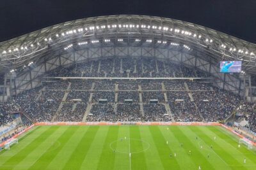
[[241,73],[242,61],[221,61],[220,72],[221,73]]

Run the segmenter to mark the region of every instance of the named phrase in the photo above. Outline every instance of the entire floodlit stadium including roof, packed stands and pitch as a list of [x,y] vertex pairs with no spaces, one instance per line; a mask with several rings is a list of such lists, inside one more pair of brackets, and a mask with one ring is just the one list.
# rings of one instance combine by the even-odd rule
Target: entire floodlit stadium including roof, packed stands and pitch
[[256,169],[256,45],[147,15],[0,43],[0,169]]

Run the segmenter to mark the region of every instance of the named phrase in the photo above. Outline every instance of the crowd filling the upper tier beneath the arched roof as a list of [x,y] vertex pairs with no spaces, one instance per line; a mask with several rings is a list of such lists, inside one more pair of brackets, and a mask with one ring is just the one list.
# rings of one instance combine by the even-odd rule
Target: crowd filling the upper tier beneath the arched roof
[[149,58],[111,58],[90,60],[51,70],[49,76],[84,77],[206,77],[209,74],[180,64],[164,64]]

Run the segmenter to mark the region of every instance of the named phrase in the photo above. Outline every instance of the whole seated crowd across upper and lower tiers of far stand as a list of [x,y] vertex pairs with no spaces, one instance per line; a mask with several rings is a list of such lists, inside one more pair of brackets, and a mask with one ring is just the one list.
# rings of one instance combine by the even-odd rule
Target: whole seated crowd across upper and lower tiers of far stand
[[[129,58],[92,60],[67,68],[60,67],[49,73],[51,76],[103,74],[118,77],[128,74],[134,77],[209,76],[207,73],[178,64],[164,64],[163,61],[155,59]],[[186,91],[184,82],[191,91]],[[92,104],[92,115],[87,116],[87,121],[170,121],[168,113],[172,113],[173,118],[180,122],[216,122],[227,118],[241,101],[239,96],[214,88],[211,83],[188,80],[59,80],[44,82],[42,85],[44,90],[43,87],[25,90],[13,97],[12,101],[1,104],[0,125],[12,121],[12,111],[22,111],[34,121],[51,121],[61,102],[63,106],[55,121],[81,121],[86,106]],[[62,101],[65,93],[67,99]],[[167,100],[164,99],[164,93]],[[92,103],[89,102],[90,94]],[[81,103],[76,104],[75,99],[81,99]],[[99,99],[108,101],[102,104]],[[124,104],[125,99],[132,100],[132,103]],[[150,104],[150,99],[157,99],[159,103]],[[143,114],[139,103],[143,104],[144,117],[141,116]],[[170,112],[166,111],[164,104],[170,105]],[[248,108],[242,105],[239,110],[246,111]],[[253,114],[250,120],[253,120]],[[251,124],[255,123],[251,121]]]

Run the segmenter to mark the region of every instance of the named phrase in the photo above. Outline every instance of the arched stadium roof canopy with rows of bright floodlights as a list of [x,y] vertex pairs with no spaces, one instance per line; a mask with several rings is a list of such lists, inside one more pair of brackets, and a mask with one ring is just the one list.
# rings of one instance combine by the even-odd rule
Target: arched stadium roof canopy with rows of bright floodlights
[[[121,42],[122,41],[122,42]],[[214,60],[243,60],[243,70],[256,74],[256,45],[207,27],[143,15],[84,18],[46,27],[0,43],[0,72],[42,62],[53,53],[114,45],[178,45],[204,52]]]

